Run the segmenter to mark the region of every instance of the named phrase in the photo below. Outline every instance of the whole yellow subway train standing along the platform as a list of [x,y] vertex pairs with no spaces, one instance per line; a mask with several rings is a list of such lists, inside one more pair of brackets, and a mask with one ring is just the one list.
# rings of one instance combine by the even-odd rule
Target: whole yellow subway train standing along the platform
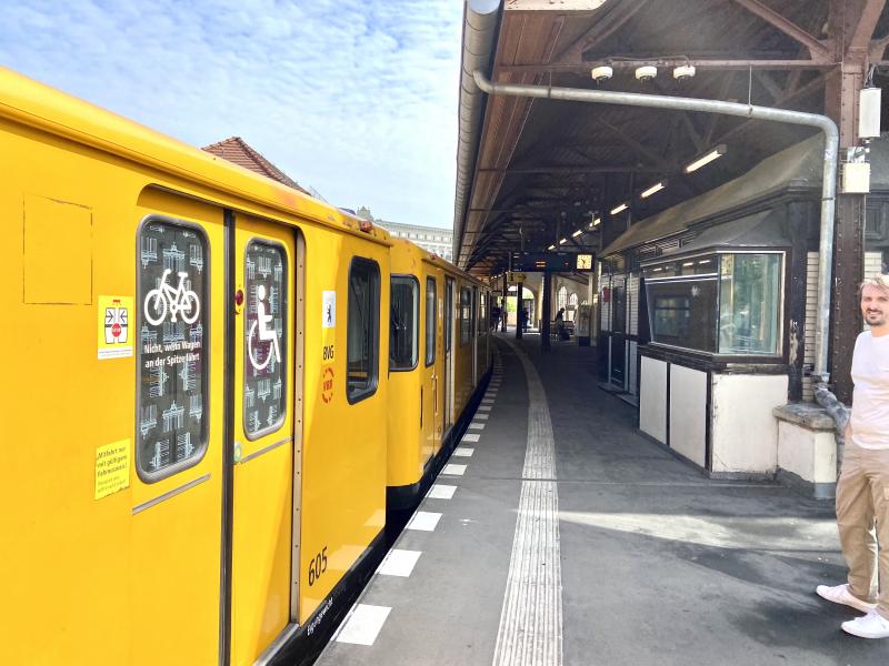
[[487,287],[0,69],[2,664],[298,664],[480,398]]

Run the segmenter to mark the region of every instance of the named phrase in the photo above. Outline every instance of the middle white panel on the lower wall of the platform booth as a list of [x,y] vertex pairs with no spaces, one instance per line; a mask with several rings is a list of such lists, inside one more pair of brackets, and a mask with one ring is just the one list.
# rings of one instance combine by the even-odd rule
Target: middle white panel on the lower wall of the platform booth
[[707,462],[707,373],[670,365],[670,448]]

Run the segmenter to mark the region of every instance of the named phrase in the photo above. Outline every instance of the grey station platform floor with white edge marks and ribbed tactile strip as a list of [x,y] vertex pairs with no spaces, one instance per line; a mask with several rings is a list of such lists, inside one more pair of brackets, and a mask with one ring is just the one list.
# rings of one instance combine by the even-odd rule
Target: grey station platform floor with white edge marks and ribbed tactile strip
[[589,347],[499,334],[487,397],[320,666],[889,663],[815,595],[833,507],[711,481],[596,387]]

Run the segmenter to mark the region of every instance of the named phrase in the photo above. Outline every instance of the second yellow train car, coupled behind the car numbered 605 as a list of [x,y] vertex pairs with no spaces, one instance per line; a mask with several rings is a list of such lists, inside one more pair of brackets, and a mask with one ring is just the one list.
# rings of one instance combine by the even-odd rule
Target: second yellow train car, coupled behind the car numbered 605
[[389,316],[389,509],[417,504],[450,455],[490,373],[487,287],[393,241]]

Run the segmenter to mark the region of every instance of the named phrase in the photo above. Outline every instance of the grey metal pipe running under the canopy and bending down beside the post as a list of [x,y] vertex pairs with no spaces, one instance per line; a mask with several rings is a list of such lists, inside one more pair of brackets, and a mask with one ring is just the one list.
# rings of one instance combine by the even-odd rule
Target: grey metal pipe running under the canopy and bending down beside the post
[[736,102],[678,98],[662,94],[638,94],[632,92],[611,92],[607,90],[586,90],[578,88],[553,88],[551,85],[517,85],[512,83],[491,83],[480,70],[472,78],[482,91],[488,94],[528,97],[572,102],[592,102],[599,104],[620,104],[625,107],[649,107],[673,111],[700,111],[720,113],[755,120],[770,120],[818,128],[825,133],[825,167],[821,184],[821,241],[818,256],[818,317],[815,325],[815,372],[813,374],[827,383],[828,327],[830,326],[830,284],[831,261],[833,258],[833,215],[837,195],[837,152],[839,149],[839,131],[837,124],[827,115],[771,109]]

